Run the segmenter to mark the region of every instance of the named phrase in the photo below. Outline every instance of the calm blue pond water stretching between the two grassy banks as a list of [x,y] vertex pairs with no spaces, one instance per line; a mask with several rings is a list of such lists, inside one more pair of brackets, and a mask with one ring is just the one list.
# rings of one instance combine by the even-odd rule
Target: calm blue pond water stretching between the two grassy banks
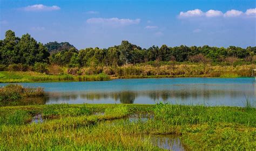
[[46,96],[37,98],[41,104],[155,104],[162,101],[173,104],[244,106],[246,97],[255,103],[256,96],[254,78],[145,78],[20,84],[45,88]]

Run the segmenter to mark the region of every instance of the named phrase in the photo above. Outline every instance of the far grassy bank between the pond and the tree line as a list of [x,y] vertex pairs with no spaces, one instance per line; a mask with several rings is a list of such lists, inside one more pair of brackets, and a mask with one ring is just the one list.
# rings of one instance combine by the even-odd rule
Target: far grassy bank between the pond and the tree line
[[113,78],[161,78],[161,77],[249,77],[255,64],[220,66],[210,64],[136,64],[121,67],[58,67],[55,75],[34,71],[0,71],[0,83],[14,82],[68,82],[106,81]]

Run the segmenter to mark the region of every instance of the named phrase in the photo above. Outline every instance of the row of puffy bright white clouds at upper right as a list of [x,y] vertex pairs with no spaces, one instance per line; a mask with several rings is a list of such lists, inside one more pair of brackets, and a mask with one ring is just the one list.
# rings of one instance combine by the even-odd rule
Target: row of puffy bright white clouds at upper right
[[248,16],[256,16],[256,8],[247,9],[246,12],[242,12],[239,10],[228,10],[225,13],[219,10],[208,10],[207,12],[203,12],[199,9],[188,10],[186,12],[181,11],[179,13],[179,18],[191,18],[191,17],[248,17]]

